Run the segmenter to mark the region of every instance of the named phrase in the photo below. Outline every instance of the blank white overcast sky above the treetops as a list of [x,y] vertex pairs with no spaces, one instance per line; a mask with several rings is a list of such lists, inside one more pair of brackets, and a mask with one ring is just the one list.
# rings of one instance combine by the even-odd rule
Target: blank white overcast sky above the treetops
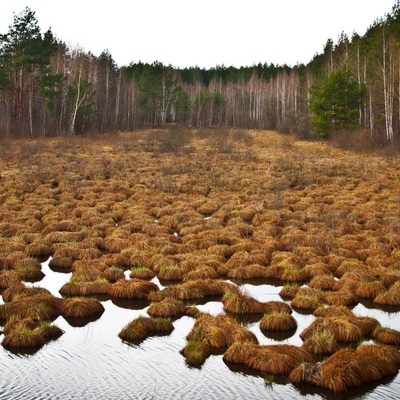
[[395,0],[0,0],[0,33],[26,6],[43,31],[119,66],[308,63],[327,39],[363,35]]

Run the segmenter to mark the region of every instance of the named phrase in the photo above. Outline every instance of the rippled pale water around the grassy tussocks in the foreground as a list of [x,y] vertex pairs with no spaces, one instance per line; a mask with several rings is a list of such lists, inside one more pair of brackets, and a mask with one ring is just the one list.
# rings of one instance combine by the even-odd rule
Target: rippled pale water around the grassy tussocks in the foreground
[[[60,296],[58,290],[71,274],[58,273],[42,264],[45,277],[33,284]],[[159,284],[156,279],[155,282]],[[161,287],[161,286],[160,286]],[[257,300],[282,300],[281,286],[244,284],[243,289]],[[3,300],[0,296],[0,304]],[[10,352],[0,347],[0,399],[398,399],[400,374],[378,384],[347,394],[334,395],[314,387],[296,387],[290,383],[267,383],[249,371],[231,370],[222,355],[213,355],[200,368],[190,368],[179,351],[194,319],[184,316],[174,322],[168,336],[150,337],[140,345],[124,343],[118,333],[138,316],[147,316],[143,302],[102,301],[102,316],[84,326],[72,326],[63,317],[54,324],[65,333],[33,354]],[[222,303],[199,305],[201,311],[216,315]],[[382,326],[400,330],[400,313],[388,313],[359,304],[353,312],[372,316]],[[299,334],[314,320],[313,315],[293,312],[298,323],[296,333],[278,342],[264,336],[259,322],[247,321],[260,344],[301,345]],[[2,340],[3,336],[0,336]]]

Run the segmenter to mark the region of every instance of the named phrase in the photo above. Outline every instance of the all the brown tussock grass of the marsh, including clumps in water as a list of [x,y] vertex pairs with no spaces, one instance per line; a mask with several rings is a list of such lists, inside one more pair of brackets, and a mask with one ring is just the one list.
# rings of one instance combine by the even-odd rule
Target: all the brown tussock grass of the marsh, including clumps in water
[[[186,368],[219,357],[315,393],[397,375],[400,327],[372,316],[400,311],[397,156],[172,126],[4,141],[0,164],[4,351],[62,340],[65,321],[112,321],[112,302],[141,310],[114,334],[126,352],[191,321],[175,348]],[[40,287],[49,257],[70,274],[58,294]]]

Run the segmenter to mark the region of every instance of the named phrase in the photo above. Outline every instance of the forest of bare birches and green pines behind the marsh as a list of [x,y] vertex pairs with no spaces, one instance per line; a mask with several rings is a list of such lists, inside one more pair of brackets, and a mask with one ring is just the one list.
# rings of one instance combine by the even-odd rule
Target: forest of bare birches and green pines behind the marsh
[[35,13],[0,35],[0,135],[132,131],[169,123],[277,129],[301,137],[362,131],[400,141],[400,2],[364,36],[342,34],[307,64],[118,67],[69,48]]

